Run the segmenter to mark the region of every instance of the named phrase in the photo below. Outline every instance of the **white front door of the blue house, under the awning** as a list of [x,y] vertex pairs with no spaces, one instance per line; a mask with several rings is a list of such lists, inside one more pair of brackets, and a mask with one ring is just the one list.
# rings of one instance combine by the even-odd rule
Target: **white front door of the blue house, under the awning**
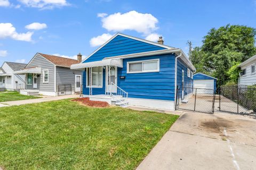
[[117,91],[117,67],[106,66],[106,80],[106,91],[115,93]]

